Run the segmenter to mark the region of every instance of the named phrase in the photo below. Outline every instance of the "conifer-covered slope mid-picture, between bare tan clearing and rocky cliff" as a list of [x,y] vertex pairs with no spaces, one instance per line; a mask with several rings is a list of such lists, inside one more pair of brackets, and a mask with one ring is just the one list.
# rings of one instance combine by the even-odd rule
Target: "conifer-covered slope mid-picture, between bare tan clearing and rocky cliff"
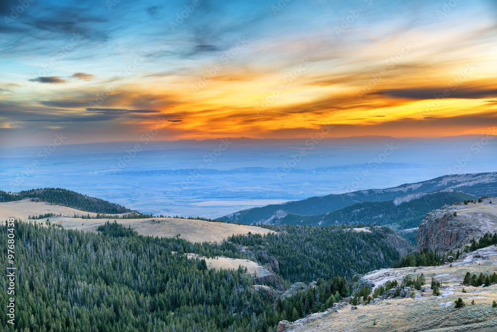
[[[391,229],[372,227],[371,232],[356,232],[349,227],[285,225],[272,228],[279,234],[236,235],[228,241],[253,252],[267,250],[279,262],[279,275],[290,282],[351,278],[399,260],[399,252],[387,240],[388,234],[395,235]],[[260,264],[267,262],[261,257],[258,260]]]

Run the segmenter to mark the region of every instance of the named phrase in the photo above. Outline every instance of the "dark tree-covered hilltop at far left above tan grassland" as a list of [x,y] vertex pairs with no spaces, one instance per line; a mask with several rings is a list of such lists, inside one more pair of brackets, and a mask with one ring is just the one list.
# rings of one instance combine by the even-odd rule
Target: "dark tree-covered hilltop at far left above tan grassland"
[[24,198],[39,198],[44,202],[63,205],[86,212],[108,214],[131,212],[130,209],[124,206],[62,188],[23,190],[15,194],[0,190],[0,202],[19,201]]

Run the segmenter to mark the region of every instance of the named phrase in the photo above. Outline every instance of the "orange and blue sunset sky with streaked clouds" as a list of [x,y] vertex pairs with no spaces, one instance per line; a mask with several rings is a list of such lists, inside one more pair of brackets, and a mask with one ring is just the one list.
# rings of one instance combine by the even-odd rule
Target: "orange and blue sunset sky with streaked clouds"
[[0,0],[0,147],[495,134],[494,0]]

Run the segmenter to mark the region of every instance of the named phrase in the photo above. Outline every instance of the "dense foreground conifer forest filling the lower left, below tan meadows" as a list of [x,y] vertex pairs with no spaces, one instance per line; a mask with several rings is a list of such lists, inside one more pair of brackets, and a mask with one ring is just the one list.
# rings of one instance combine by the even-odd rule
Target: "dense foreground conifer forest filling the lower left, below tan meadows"
[[[1,233],[5,248],[6,226]],[[253,276],[208,270],[205,260],[182,254],[207,244],[121,226],[93,234],[17,222],[15,239],[18,331],[272,331],[278,323],[270,295],[251,287]],[[0,330],[13,331],[6,301]]]

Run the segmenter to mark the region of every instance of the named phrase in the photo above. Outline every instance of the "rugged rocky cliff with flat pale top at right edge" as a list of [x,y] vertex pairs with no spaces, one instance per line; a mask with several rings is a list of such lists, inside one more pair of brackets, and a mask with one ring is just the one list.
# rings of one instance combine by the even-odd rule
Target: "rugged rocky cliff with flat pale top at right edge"
[[[491,203],[492,202],[492,203]],[[416,236],[417,251],[437,252],[462,249],[471,239],[497,232],[497,198],[482,197],[482,202],[445,205],[426,214]]]

